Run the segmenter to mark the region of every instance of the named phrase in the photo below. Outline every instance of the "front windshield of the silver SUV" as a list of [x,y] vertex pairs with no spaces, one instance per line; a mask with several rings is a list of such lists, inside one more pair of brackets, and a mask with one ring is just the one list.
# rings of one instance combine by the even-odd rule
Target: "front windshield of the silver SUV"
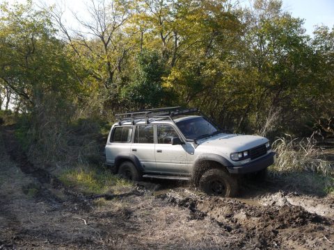
[[203,117],[186,119],[176,123],[186,139],[194,140],[218,132],[218,129]]

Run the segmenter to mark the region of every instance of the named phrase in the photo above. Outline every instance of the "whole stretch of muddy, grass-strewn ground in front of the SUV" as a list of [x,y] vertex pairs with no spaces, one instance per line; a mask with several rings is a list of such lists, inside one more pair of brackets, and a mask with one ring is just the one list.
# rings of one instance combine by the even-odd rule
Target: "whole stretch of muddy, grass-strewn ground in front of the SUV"
[[[0,249],[334,249],[334,198],[269,180],[237,199],[186,183],[84,195],[0,131]],[[284,185],[283,185],[284,184]]]

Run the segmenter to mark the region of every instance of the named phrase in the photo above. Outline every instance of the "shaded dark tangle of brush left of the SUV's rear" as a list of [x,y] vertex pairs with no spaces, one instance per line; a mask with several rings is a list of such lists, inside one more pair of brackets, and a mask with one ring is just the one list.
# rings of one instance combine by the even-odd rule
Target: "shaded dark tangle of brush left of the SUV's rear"
[[76,163],[99,165],[102,161],[104,138],[100,125],[90,119],[78,119],[69,124],[53,118],[36,127],[20,117],[15,126],[15,138],[29,159],[40,167],[51,165],[61,169]]

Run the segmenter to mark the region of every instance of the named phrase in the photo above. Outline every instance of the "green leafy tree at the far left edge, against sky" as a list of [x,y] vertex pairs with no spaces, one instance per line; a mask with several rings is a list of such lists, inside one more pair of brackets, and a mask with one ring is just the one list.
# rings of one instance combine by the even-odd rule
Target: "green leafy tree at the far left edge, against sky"
[[66,101],[73,100],[72,93],[80,89],[48,10],[34,10],[28,1],[26,5],[3,3],[0,11],[0,79],[7,100],[13,94],[26,110],[40,113],[45,102],[53,99],[53,110],[60,108],[64,113]]

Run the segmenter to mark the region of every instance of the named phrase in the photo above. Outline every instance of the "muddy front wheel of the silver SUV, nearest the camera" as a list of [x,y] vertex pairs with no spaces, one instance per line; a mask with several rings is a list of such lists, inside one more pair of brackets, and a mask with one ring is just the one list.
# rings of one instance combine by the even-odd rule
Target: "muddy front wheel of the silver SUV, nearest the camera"
[[234,197],[238,193],[238,181],[223,169],[209,169],[200,178],[200,188],[209,195]]

